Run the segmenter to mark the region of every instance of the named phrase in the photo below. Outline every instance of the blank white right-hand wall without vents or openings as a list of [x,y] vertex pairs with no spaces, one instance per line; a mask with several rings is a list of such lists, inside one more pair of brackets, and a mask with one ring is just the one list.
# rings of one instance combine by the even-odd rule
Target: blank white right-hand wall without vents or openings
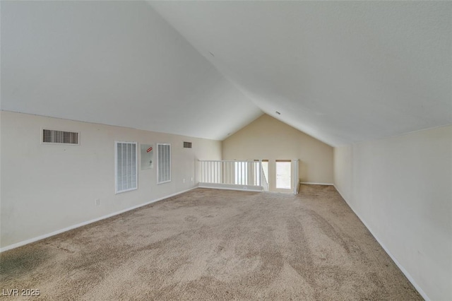
[[343,198],[430,300],[452,300],[452,126],[334,150]]

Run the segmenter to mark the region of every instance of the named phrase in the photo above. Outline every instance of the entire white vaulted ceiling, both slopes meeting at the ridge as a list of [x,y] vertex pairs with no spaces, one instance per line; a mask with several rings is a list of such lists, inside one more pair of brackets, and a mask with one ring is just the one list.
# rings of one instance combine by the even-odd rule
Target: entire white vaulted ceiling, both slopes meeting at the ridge
[[451,124],[452,2],[2,1],[1,108],[332,146]]

